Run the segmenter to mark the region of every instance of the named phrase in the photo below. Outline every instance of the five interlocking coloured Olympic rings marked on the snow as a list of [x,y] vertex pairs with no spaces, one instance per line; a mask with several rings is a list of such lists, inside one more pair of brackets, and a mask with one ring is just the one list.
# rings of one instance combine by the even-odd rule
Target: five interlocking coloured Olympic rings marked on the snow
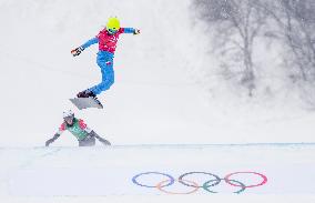
[[[140,176],[152,175],[152,174],[165,176],[166,180],[162,179],[161,181],[158,181],[156,184],[152,184],[152,185],[143,184],[143,183],[139,182]],[[206,179],[203,184],[199,184],[199,183],[196,183],[196,181],[192,181],[192,180],[189,179],[189,176],[193,175],[193,174],[202,174],[202,175],[207,175],[210,177]],[[238,180],[231,179],[231,176],[233,176],[233,175],[235,176],[237,174],[254,174],[254,175],[260,176],[262,179],[262,181],[257,184],[245,185],[243,182],[241,182]],[[266,177],[266,175],[257,173],[257,172],[233,172],[233,173],[228,173],[223,179],[220,177],[216,174],[207,173],[207,172],[187,172],[187,173],[181,174],[179,176],[179,179],[174,179],[172,175],[170,175],[167,173],[144,172],[144,173],[139,173],[139,174],[136,174],[132,177],[132,182],[134,184],[139,185],[139,186],[151,187],[151,189],[154,187],[154,189],[158,189],[159,191],[167,193],[167,194],[192,194],[192,193],[196,192],[199,189],[203,189],[204,191],[210,192],[210,193],[217,193],[216,191],[214,191],[210,187],[219,185],[222,181],[225,181],[225,183],[227,183],[231,186],[241,187],[237,191],[233,192],[233,193],[240,194],[240,193],[244,192],[245,189],[262,186],[262,185],[266,184],[267,177]],[[182,185],[185,185],[187,187],[192,187],[192,190],[190,190],[187,192],[171,192],[170,190],[164,189],[164,187],[173,185],[175,182],[179,182]]]

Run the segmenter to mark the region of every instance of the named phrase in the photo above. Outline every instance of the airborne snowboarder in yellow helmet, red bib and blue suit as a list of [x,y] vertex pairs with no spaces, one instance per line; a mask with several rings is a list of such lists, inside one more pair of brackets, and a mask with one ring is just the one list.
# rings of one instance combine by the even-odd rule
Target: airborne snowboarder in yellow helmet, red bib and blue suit
[[110,87],[114,83],[113,58],[116,49],[116,42],[121,33],[139,34],[140,30],[133,28],[121,28],[118,18],[110,18],[106,23],[106,27],[101,30],[95,38],[89,40],[81,47],[71,51],[73,57],[77,57],[84,49],[89,48],[94,43],[99,43],[96,62],[98,65],[101,68],[102,81],[101,83],[90,89],[79,92],[77,94],[78,98],[93,98],[96,102],[99,102],[96,95],[100,94],[102,91],[110,89]]

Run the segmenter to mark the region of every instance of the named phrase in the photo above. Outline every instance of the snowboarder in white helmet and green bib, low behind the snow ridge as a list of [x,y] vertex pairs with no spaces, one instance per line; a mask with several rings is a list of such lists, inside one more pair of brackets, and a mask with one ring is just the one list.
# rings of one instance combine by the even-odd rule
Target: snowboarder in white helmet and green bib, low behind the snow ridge
[[95,145],[95,139],[105,145],[111,145],[111,143],[98,135],[93,130],[91,130],[83,120],[77,119],[74,113],[70,110],[63,112],[63,123],[59,128],[59,131],[45,142],[45,146],[49,146],[54,142],[65,130],[70,131],[79,141],[79,146],[93,146]]

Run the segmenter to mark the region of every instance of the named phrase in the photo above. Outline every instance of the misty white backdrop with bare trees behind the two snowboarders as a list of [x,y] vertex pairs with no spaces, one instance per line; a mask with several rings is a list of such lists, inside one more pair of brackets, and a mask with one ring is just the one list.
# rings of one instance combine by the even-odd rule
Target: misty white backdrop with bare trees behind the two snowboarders
[[[314,142],[314,7],[1,0],[1,145],[43,145],[69,109],[114,144]],[[69,98],[101,78],[98,45],[70,50],[111,16],[141,34],[120,38],[104,110],[78,111]]]

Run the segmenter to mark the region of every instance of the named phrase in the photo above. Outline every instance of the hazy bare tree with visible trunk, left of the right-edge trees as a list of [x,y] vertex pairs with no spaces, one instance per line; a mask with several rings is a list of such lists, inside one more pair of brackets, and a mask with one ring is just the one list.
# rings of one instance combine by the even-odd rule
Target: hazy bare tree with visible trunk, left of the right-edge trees
[[200,11],[200,18],[215,32],[214,49],[232,55],[232,61],[240,64],[241,70],[224,62],[223,67],[232,75],[240,75],[240,82],[252,97],[255,89],[255,71],[253,62],[253,45],[266,13],[258,7],[260,0],[195,0],[194,7]]

